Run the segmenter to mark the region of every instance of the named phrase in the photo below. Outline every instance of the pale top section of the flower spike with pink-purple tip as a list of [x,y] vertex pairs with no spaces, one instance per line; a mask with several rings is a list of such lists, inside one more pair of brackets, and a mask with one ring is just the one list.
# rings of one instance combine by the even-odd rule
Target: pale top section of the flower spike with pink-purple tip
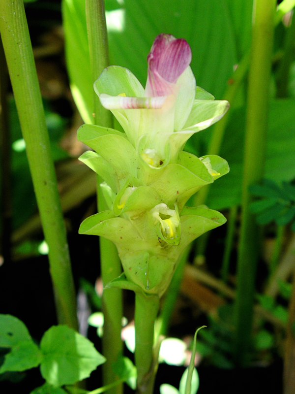
[[191,58],[184,39],[159,34],[148,54],[145,89],[119,66],[107,67],[94,83],[102,105],[114,113],[151,168],[175,163],[187,139],[219,120],[229,107],[228,101],[214,100],[203,89],[196,94]]

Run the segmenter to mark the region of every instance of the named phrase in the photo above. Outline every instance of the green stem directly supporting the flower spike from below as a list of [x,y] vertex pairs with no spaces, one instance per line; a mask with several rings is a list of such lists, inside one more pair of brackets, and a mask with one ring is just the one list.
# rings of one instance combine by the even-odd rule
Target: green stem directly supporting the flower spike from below
[[158,296],[135,294],[135,365],[138,394],[153,392],[157,365],[153,355],[154,324],[158,310]]

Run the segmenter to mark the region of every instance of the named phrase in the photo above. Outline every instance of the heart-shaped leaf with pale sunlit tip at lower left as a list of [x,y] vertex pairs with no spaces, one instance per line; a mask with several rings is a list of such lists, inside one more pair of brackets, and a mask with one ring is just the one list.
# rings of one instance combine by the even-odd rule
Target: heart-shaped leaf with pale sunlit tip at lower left
[[43,335],[41,374],[57,387],[89,377],[106,359],[87,338],[67,326],[53,326]]

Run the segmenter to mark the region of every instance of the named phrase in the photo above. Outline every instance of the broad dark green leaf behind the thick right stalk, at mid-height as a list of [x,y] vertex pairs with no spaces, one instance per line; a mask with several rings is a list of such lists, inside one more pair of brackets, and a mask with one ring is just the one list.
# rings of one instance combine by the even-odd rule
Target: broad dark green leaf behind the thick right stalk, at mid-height
[[[244,116],[243,108],[232,111],[220,150],[220,156],[230,164],[231,170],[210,187],[206,203],[213,209],[224,209],[240,203]],[[270,102],[268,125],[265,178],[275,183],[291,181],[295,178],[295,100],[278,99]],[[199,143],[203,143],[200,133],[198,138],[202,138]]]

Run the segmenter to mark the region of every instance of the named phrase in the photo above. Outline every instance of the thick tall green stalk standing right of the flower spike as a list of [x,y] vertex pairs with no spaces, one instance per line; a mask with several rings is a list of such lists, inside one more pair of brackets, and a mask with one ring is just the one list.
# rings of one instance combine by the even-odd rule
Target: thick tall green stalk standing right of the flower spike
[[249,209],[252,199],[248,189],[264,175],[275,5],[275,0],[256,0],[254,8],[235,305],[235,358],[240,365],[246,363],[250,345],[259,246],[259,231]]

